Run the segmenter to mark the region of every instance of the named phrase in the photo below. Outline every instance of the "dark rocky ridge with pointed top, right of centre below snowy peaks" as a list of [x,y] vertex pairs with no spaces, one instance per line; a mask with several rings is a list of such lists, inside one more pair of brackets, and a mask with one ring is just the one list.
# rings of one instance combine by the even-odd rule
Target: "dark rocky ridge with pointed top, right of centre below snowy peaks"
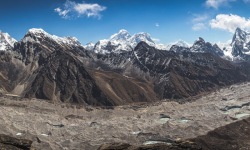
[[152,82],[160,99],[194,96],[249,79],[248,69],[212,53],[162,51],[145,42],[132,52],[99,57],[98,67],[104,70]]

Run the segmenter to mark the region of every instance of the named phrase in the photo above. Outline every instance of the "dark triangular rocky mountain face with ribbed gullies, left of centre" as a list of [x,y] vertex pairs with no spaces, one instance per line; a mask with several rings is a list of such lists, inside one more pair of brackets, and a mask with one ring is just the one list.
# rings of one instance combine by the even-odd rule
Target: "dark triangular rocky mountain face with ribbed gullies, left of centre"
[[57,50],[34,72],[25,97],[84,105],[114,105],[98,88],[95,80],[70,54]]

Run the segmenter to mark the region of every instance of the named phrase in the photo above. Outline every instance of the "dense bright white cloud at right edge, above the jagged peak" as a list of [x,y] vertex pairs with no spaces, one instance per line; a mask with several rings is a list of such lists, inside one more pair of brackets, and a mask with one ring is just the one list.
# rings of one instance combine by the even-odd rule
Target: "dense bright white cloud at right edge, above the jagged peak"
[[237,27],[249,30],[250,19],[234,14],[219,14],[209,22],[209,25],[213,29],[222,29],[233,33]]

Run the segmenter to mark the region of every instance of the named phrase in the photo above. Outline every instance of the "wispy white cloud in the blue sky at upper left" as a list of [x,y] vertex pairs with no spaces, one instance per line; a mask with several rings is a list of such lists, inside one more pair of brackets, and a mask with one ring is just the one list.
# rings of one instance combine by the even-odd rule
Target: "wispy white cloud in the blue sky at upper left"
[[101,12],[104,11],[106,7],[99,4],[88,4],[88,3],[76,3],[67,0],[63,8],[55,8],[54,11],[58,13],[64,19],[71,19],[75,17],[87,16],[101,18]]

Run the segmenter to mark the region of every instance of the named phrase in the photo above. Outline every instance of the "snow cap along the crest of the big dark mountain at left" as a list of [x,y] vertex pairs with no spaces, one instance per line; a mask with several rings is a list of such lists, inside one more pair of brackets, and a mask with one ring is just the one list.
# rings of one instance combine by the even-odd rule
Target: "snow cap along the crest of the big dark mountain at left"
[[41,42],[45,38],[49,38],[54,40],[60,45],[74,45],[74,46],[80,46],[81,43],[78,41],[76,37],[58,37],[56,35],[51,35],[44,31],[41,28],[32,28],[29,29],[24,38],[21,40],[22,42]]

